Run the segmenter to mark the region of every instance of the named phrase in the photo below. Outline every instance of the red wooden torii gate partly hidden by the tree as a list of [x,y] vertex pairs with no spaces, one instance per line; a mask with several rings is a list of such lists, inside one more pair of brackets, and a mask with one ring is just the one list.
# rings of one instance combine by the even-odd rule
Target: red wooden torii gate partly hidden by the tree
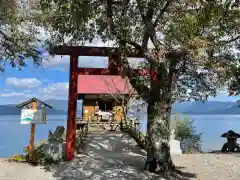
[[[87,47],[87,46],[55,46],[52,54],[70,56],[69,72],[69,95],[68,95],[68,118],[66,134],[66,160],[74,159],[76,141],[76,111],[77,111],[77,83],[79,74],[88,75],[119,75],[120,62],[118,48],[112,47]],[[78,67],[78,56],[107,56],[109,57],[108,68],[80,68]],[[132,52],[128,57],[142,58],[138,52]],[[146,74],[146,71],[135,69],[137,74]]]

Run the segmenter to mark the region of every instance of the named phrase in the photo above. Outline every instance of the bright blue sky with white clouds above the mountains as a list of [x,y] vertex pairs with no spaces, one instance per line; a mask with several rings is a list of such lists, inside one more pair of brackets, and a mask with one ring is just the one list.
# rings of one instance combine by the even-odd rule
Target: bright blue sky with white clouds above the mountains
[[[95,46],[101,45],[95,41]],[[81,67],[107,67],[106,58],[80,57]],[[27,67],[18,71],[5,66],[5,73],[0,74],[0,104],[16,104],[32,97],[41,100],[67,99],[69,81],[69,57],[56,56],[36,67],[27,60]],[[237,101],[238,97],[228,97],[226,91],[219,92],[216,98],[209,100]]]

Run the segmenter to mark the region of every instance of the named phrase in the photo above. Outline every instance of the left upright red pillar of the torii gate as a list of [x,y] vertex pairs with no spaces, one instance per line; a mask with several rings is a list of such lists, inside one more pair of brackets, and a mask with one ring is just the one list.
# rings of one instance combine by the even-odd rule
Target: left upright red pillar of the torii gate
[[66,135],[66,160],[72,161],[75,154],[76,141],[76,111],[77,111],[77,83],[78,83],[78,56],[70,56],[68,120]]

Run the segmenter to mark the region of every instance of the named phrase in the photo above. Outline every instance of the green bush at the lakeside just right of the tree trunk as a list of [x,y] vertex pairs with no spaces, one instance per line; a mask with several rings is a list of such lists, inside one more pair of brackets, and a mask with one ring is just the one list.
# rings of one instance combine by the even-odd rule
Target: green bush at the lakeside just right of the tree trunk
[[173,120],[172,129],[175,130],[175,139],[181,142],[184,153],[194,153],[201,151],[201,133],[196,132],[194,120],[180,116]]

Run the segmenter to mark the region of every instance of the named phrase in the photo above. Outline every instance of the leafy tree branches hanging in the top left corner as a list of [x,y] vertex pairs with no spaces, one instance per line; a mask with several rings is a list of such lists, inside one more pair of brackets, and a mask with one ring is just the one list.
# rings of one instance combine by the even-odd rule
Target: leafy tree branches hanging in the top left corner
[[[37,39],[39,31],[32,21],[33,2],[0,0],[0,71],[5,65],[21,70],[26,58],[42,63],[41,49]],[[30,1],[29,1],[30,2]]]

